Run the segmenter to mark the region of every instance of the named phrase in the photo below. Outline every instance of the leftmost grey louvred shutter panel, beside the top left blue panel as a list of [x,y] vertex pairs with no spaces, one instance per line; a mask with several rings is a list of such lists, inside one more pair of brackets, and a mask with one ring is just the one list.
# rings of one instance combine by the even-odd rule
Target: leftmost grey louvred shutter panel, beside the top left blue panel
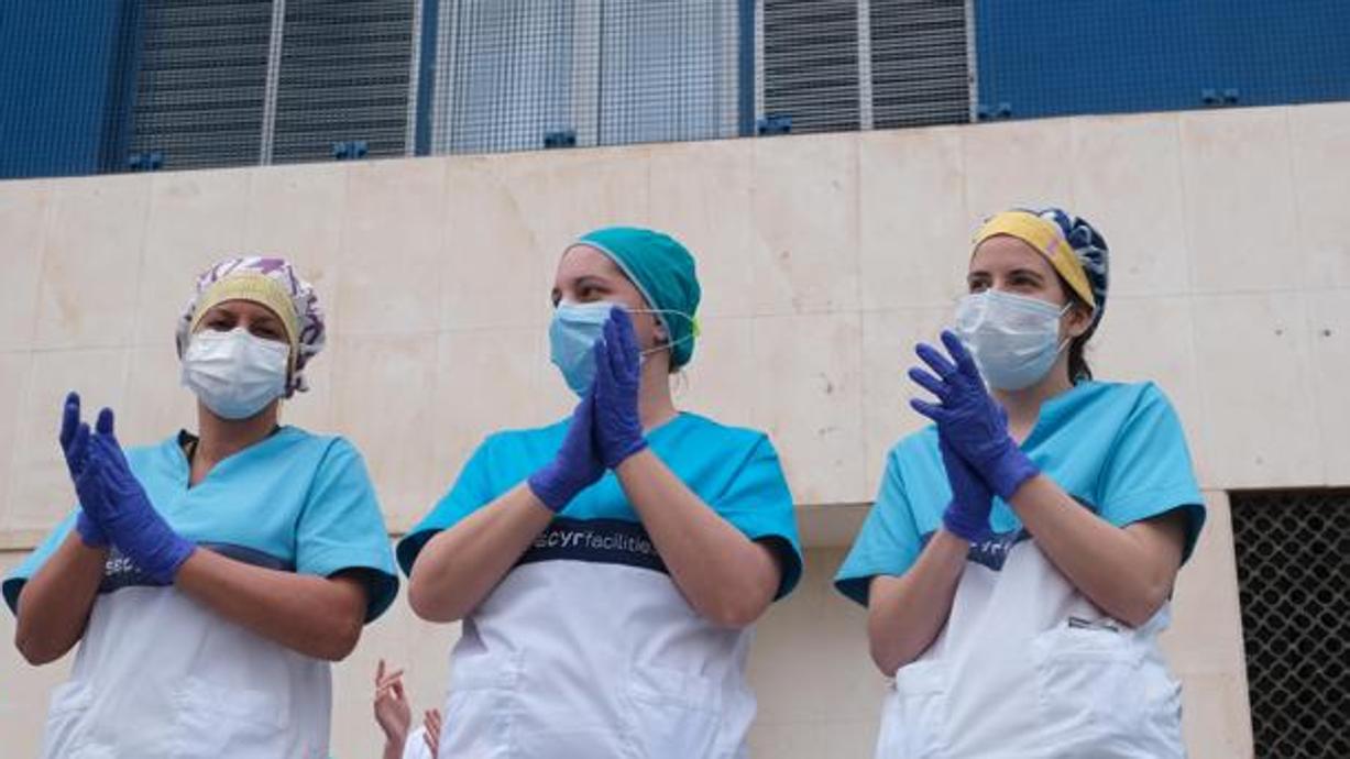
[[258,163],[271,0],[147,0],[132,154],[166,169]]

